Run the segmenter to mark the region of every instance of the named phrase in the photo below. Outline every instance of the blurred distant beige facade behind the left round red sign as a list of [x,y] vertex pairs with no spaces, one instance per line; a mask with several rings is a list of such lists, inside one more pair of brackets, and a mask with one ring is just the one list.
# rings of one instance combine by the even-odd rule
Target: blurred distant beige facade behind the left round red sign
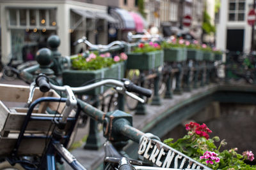
[[[196,39],[200,39],[202,34],[202,21],[204,11],[204,1],[202,0],[161,0],[159,27],[161,32],[169,34],[193,34]],[[186,27],[184,17],[189,15],[190,26]],[[168,31],[168,27],[170,31]]]

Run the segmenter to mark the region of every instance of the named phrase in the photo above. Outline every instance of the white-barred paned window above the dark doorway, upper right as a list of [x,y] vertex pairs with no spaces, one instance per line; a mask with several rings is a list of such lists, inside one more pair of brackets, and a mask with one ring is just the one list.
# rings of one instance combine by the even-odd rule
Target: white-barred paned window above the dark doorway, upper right
[[229,0],[228,20],[244,21],[245,0]]

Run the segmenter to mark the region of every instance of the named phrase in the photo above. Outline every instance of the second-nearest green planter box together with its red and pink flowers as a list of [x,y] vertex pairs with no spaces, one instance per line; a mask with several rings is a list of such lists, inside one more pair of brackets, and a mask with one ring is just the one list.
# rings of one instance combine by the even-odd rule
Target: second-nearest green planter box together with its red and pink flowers
[[127,55],[127,69],[148,70],[163,65],[163,50],[158,43],[140,43]]

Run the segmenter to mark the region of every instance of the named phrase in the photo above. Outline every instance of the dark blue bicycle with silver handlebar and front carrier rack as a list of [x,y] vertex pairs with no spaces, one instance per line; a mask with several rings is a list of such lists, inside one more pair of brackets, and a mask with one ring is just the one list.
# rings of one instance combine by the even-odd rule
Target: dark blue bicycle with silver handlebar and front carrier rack
[[[68,141],[70,139],[71,133],[74,131],[74,127],[76,124],[76,121],[79,117],[79,112],[81,111],[81,107],[79,102],[77,102],[76,96],[74,96],[74,92],[84,92],[86,90],[91,90],[96,87],[99,87],[100,85],[104,84],[113,84],[120,88],[128,88],[129,90],[134,90],[136,92],[141,92],[145,94],[146,96],[150,95],[150,90],[143,89],[141,87],[137,87],[136,85],[133,85],[129,81],[125,80],[125,83],[122,81],[117,80],[103,80],[99,81],[97,83],[93,83],[91,85],[86,85],[84,87],[77,87],[77,88],[70,88],[68,86],[56,86],[49,82],[49,79],[44,76],[43,74],[40,74],[36,77],[35,83],[32,83],[28,99],[28,104],[31,103],[31,99],[33,98],[33,93],[35,92],[35,87],[40,87],[40,90],[42,92],[47,92],[50,89],[60,90],[62,92],[66,92],[67,98],[56,98],[56,97],[41,97],[39,99],[36,99],[33,103],[30,104],[28,114],[26,116],[26,119],[24,120],[24,123],[22,125],[22,129],[19,133],[19,138],[17,139],[17,143],[15,144],[13,148],[13,152],[11,157],[6,157],[5,159],[10,162],[11,165],[19,163],[23,168],[25,169],[55,169],[55,163],[60,162],[61,158],[63,158],[73,169],[85,169],[75,158],[74,156],[68,152],[68,150],[65,148],[68,145]],[[131,97],[138,98],[134,96],[134,94],[130,94],[125,89],[120,89],[120,91],[124,92],[125,94],[130,95]],[[140,99],[141,100],[141,99]],[[19,157],[19,146],[24,138],[36,138],[35,136],[25,136],[26,127],[28,126],[28,122],[30,119],[35,119],[35,117],[31,116],[32,111],[34,110],[36,104],[47,101],[47,102],[66,102],[65,109],[63,110],[62,117],[56,117],[52,119],[54,122],[54,129],[52,130],[51,136],[40,136],[39,138],[49,138],[49,143],[45,145],[44,153],[42,153],[42,157]],[[81,103],[84,103],[83,101],[79,100]],[[71,111],[76,108],[76,116],[72,119],[75,124],[72,124],[72,128],[70,128],[70,131],[65,132],[65,127],[67,125],[67,121],[70,121],[70,118],[68,118],[68,115],[70,115]],[[41,117],[41,119],[44,119]],[[65,134],[64,134],[65,133]],[[38,137],[37,137],[38,138]]]

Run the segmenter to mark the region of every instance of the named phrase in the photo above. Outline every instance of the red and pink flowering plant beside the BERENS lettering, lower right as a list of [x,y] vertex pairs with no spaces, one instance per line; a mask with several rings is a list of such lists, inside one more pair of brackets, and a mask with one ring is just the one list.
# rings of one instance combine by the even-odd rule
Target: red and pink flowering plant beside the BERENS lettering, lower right
[[[164,143],[212,169],[256,169],[256,166],[245,163],[254,159],[251,151],[245,151],[242,155],[237,153],[237,148],[220,151],[221,146],[227,143],[220,141],[218,136],[209,138],[212,131],[207,125],[190,122],[186,124],[186,130],[188,134],[183,138],[175,142],[172,138],[165,139]],[[217,147],[215,142],[218,141],[220,145]]]

